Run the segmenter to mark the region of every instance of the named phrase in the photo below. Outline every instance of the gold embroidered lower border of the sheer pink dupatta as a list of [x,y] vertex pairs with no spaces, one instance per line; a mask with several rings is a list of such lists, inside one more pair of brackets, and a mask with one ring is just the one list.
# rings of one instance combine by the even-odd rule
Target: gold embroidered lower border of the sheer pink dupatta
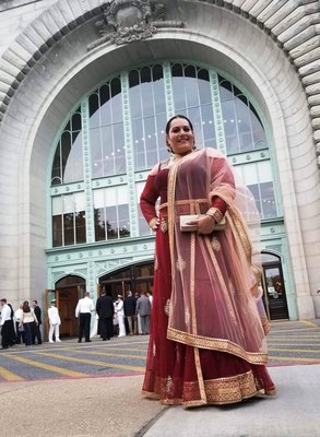
[[226,352],[232,355],[236,355],[239,358],[242,358],[251,364],[264,365],[268,362],[268,355],[265,353],[245,351],[241,346],[228,340],[211,339],[209,336],[195,335],[189,332],[179,331],[170,327],[168,327],[167,330],[167,339],[193,347]]

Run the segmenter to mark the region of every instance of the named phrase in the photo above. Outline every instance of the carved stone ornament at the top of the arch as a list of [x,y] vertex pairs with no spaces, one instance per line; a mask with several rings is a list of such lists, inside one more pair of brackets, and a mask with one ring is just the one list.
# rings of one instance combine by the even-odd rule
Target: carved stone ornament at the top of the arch
[[102,9],[104,17],[95,23],[102,37],[88,50],[107,42],[121,45],[151,38],[159,27],[183,27],[181,21],[165,21],[164,4],[150,0],[114,0]]

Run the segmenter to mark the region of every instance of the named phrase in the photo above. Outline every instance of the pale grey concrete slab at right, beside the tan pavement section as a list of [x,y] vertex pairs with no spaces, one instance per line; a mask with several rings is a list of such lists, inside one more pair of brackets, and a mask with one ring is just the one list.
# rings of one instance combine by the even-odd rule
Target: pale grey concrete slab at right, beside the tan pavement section
[[228,406],[174,406],[144,437],[319,437],[320,365],[270,368],[274,398]]

